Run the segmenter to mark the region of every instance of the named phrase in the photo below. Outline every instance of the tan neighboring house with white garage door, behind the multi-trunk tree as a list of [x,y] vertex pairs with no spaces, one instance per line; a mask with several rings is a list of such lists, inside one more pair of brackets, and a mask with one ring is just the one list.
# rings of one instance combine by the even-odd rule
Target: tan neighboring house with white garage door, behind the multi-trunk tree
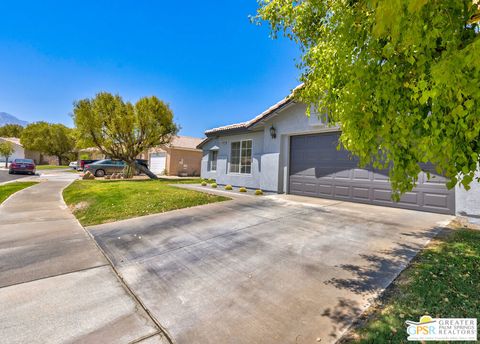
[[150,149],[150,170],[169,176],[199,176],[202,150],[197,145],[201,142],[202,139],[196,137],[175,136],[168,145]]

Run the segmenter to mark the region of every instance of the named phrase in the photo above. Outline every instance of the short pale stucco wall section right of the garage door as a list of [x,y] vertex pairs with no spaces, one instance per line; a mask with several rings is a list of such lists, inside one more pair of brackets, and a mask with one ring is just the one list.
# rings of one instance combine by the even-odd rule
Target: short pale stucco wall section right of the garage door
[[[480,169],[475,178],[480,177]],[[480,183],[474,180],[470,184],[470,190],[462,186],[455,187],[455,210],[456,214],[468,218],[472,223],[480,224]]]

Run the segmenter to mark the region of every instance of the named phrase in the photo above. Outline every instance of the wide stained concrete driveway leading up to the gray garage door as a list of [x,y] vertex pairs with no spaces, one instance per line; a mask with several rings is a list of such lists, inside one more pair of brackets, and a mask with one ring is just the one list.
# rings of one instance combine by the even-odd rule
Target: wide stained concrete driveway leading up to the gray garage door
[[88,229],[176,343],[333,343],[448,220],[268,196]]

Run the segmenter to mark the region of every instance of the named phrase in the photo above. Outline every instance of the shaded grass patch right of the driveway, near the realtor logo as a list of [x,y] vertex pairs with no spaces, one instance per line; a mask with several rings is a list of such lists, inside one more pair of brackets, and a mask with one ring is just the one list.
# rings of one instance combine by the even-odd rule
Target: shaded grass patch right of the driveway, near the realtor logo
[[477,318],[480,231],[452,230],[422,251],[348,343],[407,343],[406,320]]

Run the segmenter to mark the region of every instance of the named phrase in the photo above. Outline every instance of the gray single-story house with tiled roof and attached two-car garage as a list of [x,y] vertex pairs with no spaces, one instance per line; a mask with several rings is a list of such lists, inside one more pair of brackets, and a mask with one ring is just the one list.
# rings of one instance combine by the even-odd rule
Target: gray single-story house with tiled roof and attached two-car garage
[[306,116],[306,105],[291,95],[250,121],[207,130],[201,176],[275,193],[329,198],[444,214],[478,216],[480,185],[448,190],[432,171],[399,202],[391,200],[388,171],[362,169],[337,150],[339,127],[326,116]]

